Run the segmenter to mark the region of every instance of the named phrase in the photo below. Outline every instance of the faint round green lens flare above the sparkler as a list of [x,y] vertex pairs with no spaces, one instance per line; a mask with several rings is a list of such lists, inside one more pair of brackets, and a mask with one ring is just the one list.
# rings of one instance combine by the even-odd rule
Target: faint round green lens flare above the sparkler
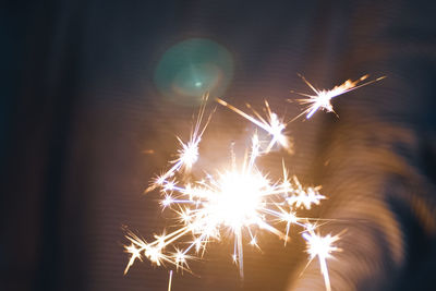
[[206,92],[221,96],[232,77],[233,59],[223,46],[206,38],[190,38],[164,53],[155,84],[165,98],[195,106]]

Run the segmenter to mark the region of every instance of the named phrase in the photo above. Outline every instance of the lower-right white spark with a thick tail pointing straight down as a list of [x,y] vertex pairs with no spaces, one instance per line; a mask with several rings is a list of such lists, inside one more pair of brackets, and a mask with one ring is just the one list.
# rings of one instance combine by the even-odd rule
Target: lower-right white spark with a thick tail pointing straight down
[[308,225],[306,232],[304,232],[302,235],[306,241],[306,252],[310,255],[308,263],[311,263],[315,257],[318,258],[326,290],[331,291],[327,259],[332,257],[331,253],[341,251],[341,248],[335,246],[335,243],[340,239],[340,234],[331,235],[329,233],[325,237],[322,237],[318,233],[315,233],[313,226]]

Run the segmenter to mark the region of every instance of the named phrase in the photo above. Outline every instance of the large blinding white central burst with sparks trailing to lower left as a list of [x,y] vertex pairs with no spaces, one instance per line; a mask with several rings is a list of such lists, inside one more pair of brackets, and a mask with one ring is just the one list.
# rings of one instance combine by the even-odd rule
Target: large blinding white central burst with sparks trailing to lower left
[[[158,185],[162,195],[161,207],[172,210],[180,225],[168,234],[156,235],[150,243],[129,234],[132,245],[125,247],[131,254],[126,270],[135,259],[143,257],[156,265],[170,263],[177,269],[189,270],[187,260],[193,258],[191,253],[202,256],[209,242],[232,239],[232,258],[243,277],[243,245],[250,243],[259,247],[258,231],[270,232],[286,243],[291,226],[305,228],[305,219],[296,216],[294,207],[305,195],[305,190],[296,178],[289,181],[284,163],[283,177],[278,181],[262,173],[256,166],[258,147],[258,137],[254,134],[250,154],[245,155],[243,162],[238,165],[233,158],[229,169],[191,182],[177,181],[175,175],[164,180]],[[288,199],[294,196],[299,198],[290,203]],[[304,199],[302,205],[310,207],[313,203],[318,201]],[[281,223],[286,225],[286,231],[278,229]],[[187,237],[192,240],[182,248]]]

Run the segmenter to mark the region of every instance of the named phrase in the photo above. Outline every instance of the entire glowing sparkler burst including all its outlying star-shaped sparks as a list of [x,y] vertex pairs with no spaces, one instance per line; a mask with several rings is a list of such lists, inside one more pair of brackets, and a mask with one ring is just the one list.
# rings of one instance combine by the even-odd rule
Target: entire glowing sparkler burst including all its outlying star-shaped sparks
[[[318,109],[334,112],[331,98],[383,78],[356,86],[366,77],[365,75],[354,82],[347,81],[331,90],[318,90],[303,77],[316,95],[300,94],[308,97],[299,100],[308,105],[302,114],[310,119]],[[291,227],[295,227],[301,230],[300,233],[306,241],[310,262],[318,258],[326,289],[329,291],[331,287],[326,260],[331,257],[331,253],[340,251],[335,246],[340,234],[323,237],[317,230],[318,226],[312,222],[313,219],[296,215],[299,209],[311,209],[326,198],[319,192],[322,187],[303,186],[295,175],[290,178],[284,162],[281,178],[275,180],[267,177],[256,165],[257,158],[268,155],[275,146],[288,153],[292,151],[291,140],[286,133],[287,123],[271,111],[267,101],[264,118],[255,110],[254,116],[251,116],[217,98],[218,104],[264,130],[269,136],[268,141],[261,141],[255,132],[252,135],[251,148],[246,149],[242,162],[237,162],[234,154],[231,153],[232,159],[228,169],[213,169],[211,173],[205,173],[199,180],[190,174],[199,158],[199,144],[211,119],[210,113],[204,121],[207,99],[208,96],[205,95],[189,141],[183,142],[178,137],[180,147],[177,159],[171,161],[169,170],[158,175],[146,190],[159,190],[162,197],[160,205],[162,209],[175,214],[177,227],[169,233],[155,235],[155,240],[150,242],[129,232],[126,239],[130,245],[125,245],[125,252],[130,254],[130,260],[124,274],[136,259],[142,262],[144,258],[157,266],[170,264],[175,266],[177,270],[191,271],[189,262],[202,257],[209,243],[232,239],[232,259],[239,266],[240,276],[243,278],[244,243],[259,247],[257,233],[267,231],[283,240],[286,244],[290,240]],[[267,146],[263,146],[265,144]],[[207,169],[202,170],[206,172]]]

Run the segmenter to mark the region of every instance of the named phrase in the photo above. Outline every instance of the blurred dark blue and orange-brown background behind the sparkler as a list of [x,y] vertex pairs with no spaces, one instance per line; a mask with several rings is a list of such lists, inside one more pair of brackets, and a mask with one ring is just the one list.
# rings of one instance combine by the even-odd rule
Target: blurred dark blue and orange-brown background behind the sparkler
[[[339,119],[291,123],[287,165],[329,196],[310,214],[338,219],[322,232],[348,230],[329,260],[334,290],[435,289],[433,1],[9,1],[0,13],[0,290],[167,290],[168,270],[148,262],[123,276],[122,226],[146,238],[167,226],[158,195],[142,193],[195,108],[162,98],[153,76],[193,37],[232,53],[226,100],[267,98],[288,118],[300,110],[290,89],[308,89],[296,73],[322,88],[387,75],[338,97]],[[247,129],[218,108],[204,146]],[[299,277],[294,234],[246,248],[243,282],[231,243],[211,245],[191,265],[201,278],[177,275],[173,290],[324,290],[316,262]]]

